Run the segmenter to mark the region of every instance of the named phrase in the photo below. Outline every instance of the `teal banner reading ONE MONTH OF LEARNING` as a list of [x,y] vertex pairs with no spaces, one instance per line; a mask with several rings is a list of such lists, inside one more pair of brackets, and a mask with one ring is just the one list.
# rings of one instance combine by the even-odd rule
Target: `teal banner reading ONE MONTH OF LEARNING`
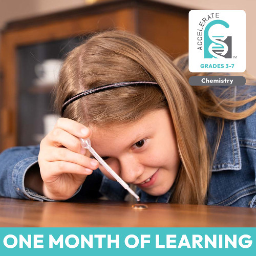
[[0,228],[1,255],[254,255],[256,228]]

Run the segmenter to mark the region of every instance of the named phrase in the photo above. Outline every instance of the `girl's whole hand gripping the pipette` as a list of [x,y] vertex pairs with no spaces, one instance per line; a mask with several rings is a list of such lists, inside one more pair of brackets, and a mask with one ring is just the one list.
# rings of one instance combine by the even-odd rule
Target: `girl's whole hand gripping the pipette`
[[38,163],[44,196],[53,200],[71,198],[87,175],[99,165],[79,138],[88,138],[90,130],[68,118],[59,118],[54,129],[40,143]]

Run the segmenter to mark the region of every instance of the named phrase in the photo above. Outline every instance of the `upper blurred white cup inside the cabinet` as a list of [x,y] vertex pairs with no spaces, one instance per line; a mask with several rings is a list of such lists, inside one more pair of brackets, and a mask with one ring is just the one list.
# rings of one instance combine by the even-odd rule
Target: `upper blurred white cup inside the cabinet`
[[56,83],[62,63],[61,59],[46,59],[35,65],[35,74],[41,82]]

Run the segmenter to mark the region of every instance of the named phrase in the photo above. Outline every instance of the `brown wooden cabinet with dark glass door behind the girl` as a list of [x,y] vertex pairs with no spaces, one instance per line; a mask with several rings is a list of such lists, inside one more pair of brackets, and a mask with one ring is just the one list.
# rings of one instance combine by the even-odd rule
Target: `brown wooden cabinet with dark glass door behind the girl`
[[36,63],[64,58],[83,37],[109,28],[139,34],[176,57],[188,51],[188,11],[155,1],[116,0],[7,24],[1,42],[0,151],[38,143],[42,116],[53,111],[51,88],[34,87]]

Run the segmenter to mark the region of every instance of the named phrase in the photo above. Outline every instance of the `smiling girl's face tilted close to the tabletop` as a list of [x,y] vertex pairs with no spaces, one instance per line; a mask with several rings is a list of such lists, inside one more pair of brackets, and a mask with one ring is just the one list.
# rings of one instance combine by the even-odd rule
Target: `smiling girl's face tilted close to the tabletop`
[[[180,157],[167,109],[150,112],[132,124],[91,130],[92,147],[126,183],[153,196],[165,194],[173,185]],[[99,168],[114,180],[101,165]]]

